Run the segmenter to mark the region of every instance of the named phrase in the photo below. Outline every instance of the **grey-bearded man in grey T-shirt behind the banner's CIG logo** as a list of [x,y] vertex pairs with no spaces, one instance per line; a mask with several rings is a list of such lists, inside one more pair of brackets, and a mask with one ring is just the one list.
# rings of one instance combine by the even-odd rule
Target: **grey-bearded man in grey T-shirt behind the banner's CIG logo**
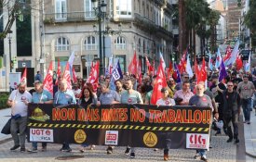
[[[196,94],[192,96],[189,100],[189,106],[209,106],[213,108],[209,96],[207,94],[204,94],[205,87],[203,84],[197,84],[195,86],[195,92]],[[196,150],[195,158],[199,156],[201,156],[201,160],[208,161],[206,150]]]

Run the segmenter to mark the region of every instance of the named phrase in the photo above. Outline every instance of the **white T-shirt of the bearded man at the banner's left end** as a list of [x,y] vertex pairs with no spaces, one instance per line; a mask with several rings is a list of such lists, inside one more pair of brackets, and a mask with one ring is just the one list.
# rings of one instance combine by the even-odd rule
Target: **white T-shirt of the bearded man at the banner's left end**
[[11,107],[11,114],[13,116],[20,114],[21,117],[27,117],[28,106],[26,106],[22,100],[32,101],[31,93],[25,91],[24,93],[19,93],[19,90],[14,90],[10,93],[8,100],[14,101],[14,106]]

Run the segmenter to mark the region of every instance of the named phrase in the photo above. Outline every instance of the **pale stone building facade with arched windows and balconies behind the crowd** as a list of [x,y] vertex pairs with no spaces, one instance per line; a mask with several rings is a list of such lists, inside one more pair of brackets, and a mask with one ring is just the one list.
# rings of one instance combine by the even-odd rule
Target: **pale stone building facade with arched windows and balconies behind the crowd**
[[[134,52],[145,72],[145,56],[155,66],[161,52],[166,60],[172,57],[172,1],[107,0],[106,19],[101,21],[103,65],[110,57],[119,58],[123,71],[128,70]],[[40,16],[42,14],[42,17]],[[91,61],[99,59],[99,21],[91,0],[44,0],[42,13],[34,19],[37,26],[35,53],[42,54],[36,65],[44,69],[50,61],[61,69],[74,53],[74,69],[88,78]],[[96,28],[95,28],[96,27]],[[40,34],[41,33],[41,34]],[[41,64],[40,64],[41,63]]]

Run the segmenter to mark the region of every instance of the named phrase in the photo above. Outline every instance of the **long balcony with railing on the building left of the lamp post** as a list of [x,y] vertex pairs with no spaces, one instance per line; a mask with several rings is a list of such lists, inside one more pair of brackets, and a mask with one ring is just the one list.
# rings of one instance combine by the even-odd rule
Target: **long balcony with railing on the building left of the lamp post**
[[50,13],[44,15],[45,23],[96,20],[95,12]]

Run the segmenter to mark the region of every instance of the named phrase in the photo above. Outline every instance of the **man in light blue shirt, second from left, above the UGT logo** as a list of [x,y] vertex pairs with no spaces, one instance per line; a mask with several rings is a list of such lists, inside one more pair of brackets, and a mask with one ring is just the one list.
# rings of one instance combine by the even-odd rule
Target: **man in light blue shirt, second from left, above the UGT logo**
[[[43,83],[41,81],[34,81],[35,92],[32,95],[32,103],[36,104],[52,104],[53,97],[52,94],[47,90],[44,90]],[[42,143],[42,151],[47,151],[47,143]],[[32,143],[32,149],[28,152],[37,153],[37,143]]]

